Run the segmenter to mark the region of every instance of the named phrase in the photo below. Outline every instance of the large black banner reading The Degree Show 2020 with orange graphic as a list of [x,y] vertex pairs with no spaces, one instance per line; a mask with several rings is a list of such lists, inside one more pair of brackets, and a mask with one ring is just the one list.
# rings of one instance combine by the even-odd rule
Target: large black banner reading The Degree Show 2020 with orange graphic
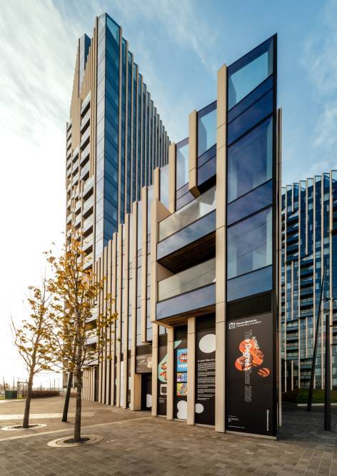
[[275,435],[273,315],[226,324],[226,429]]

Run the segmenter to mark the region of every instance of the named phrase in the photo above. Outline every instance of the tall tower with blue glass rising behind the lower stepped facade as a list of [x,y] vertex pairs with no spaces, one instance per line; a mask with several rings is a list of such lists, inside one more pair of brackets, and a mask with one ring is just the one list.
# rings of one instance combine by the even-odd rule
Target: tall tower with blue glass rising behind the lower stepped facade
[[66,126],[67,237],[83,229],[91,263],[168,156],[169,137],[121,26],[103,14],[92,38],[79,39]]

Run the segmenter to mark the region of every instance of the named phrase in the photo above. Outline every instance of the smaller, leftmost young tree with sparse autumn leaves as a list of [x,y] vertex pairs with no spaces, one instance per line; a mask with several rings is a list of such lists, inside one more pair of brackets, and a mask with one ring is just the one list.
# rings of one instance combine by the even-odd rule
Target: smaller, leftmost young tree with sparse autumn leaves
[[54,324],[54,309],[48,280],[42,279],[41,286],[29,286],[27,303],[30,309],[28,320],[16,327],[11,319],[11,332],[14,345],[24,360],[29,374],[26,403],[24,407],[23,428],[29,427],[29,410],[34,375],[41,370],[52,370],[54,363],[54,343],[51,340],[51,328]]

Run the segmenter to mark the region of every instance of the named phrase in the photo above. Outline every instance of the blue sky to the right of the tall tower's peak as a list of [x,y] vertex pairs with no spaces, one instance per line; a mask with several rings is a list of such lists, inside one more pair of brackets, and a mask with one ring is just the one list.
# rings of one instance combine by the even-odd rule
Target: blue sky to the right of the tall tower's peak
[[[78,5],[65,2],[62,14]],[[89,2],[89,34],[99,11],[123,26],[175,141],[187,136],[188,113],[216,97],[216,70],[277,32],[283,183],[336,167],[337,1]]]

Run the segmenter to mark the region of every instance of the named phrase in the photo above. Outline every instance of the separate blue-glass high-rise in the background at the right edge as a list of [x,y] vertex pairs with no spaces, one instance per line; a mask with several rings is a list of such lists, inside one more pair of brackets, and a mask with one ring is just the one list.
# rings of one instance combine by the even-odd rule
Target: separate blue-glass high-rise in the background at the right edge
[[[337,172],[282,189],[282,389],[308,388],[318,322],[314,388],[324,388],[325,323],[337,324]],[[325,273],[323,271],[325,270]],[[321,283],[323,301],[319,310]],[[336,344],[337,328],[331,328]],[[337,347],[331,345],[337,388]]]

